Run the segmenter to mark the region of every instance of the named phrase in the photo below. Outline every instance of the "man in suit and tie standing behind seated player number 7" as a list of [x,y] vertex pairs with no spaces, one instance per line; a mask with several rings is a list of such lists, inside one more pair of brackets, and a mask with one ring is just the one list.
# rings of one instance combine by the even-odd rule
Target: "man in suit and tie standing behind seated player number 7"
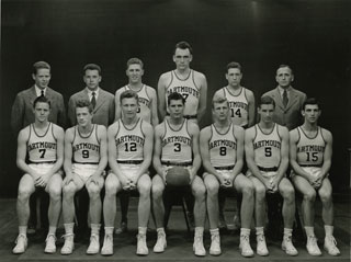
[[[32,78],[34,86],[19,92],[15,96],[11,112],[11,127],[16,136],[19,132],[25,126],[34,123],[35,116],[33,113],[34,100],[41,95],[46,96],[50,101],[50,113],[48,115],[48,122],[57,124],[65,128],[66,126],[66,111],[64,96],[48,87],[52,73],[50,65],[46,61],[37,61],[33,65]],[[36,194],[33,194],[30,201],[31,217],[29,221],[29,233],[34,233],[36,228]],[[47,227],[47,208],[48,197],[45,194],[42,197],[42,228]]]

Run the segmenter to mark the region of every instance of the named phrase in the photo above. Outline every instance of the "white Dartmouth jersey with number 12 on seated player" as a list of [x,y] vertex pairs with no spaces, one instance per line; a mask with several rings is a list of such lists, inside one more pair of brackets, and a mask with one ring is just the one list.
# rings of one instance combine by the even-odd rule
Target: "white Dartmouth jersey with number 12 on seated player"
[[115,136],[117,161],[144,160],[145,135],[141,123],[143,119],[138,118],[132,128],[127,128],[123,121],[118,119],[118,132]]

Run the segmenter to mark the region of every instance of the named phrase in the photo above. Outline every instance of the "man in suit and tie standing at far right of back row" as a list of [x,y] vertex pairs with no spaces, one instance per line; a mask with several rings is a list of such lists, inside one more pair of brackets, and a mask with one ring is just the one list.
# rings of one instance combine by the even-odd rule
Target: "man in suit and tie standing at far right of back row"
[[278,87],[262,96],[268,95],[274,100],[276,106],[273,121],[291,130],[302,124],[301,110],[306,94],[292,87],[294,73],[287,65],[279,66],[275,80]]

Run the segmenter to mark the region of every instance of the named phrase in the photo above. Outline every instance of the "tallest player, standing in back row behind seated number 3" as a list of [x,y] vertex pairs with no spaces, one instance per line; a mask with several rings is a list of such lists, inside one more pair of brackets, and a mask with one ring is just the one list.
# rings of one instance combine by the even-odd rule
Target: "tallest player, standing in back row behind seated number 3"
[[158,81],[159,112],[163,119],[168,113],[167,98],[180,93],[185,100],[184,118],[200,123],[206,111],[207,81],[203,73],[190,68],[192,48],[186,42],[176,45],[173,61],[176,70],[165,72]]

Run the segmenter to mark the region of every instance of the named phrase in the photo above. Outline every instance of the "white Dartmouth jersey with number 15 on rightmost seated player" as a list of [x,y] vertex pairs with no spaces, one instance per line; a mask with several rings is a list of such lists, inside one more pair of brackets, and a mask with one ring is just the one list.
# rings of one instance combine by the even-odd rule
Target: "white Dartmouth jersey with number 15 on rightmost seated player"
[[308,137],[301,128],[296,128],[299,135],[297,143],[297,163],[301,166],[319,167],[324,161],[324,152],[326,149],[326,141],[321,134],[321,128],[315,137]]

